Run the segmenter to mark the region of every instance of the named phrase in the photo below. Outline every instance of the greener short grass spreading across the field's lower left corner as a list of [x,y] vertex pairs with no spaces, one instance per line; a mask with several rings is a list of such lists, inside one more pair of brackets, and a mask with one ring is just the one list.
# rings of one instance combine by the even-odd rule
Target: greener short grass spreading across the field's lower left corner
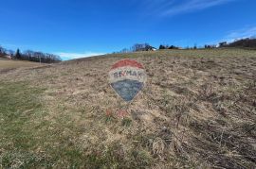
[[[46,120],[50,110],[41,99],[45,91],[26,82],[0,83],[0,168],[122,168],[137,162],[148,164],[143,154],[137,156],[137,161],[131,155],[123,161],[118,145],[87,154],[76,144],[79,128],[68,115]],[[122,123],[129,127],[131,120]],[[66,130],[70,132],[64,134]]]

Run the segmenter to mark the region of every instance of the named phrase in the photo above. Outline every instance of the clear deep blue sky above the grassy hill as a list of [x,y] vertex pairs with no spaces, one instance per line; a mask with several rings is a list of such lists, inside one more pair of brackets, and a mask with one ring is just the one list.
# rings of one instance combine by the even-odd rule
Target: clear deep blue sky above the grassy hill
[[0,0],[0,45],[82,58],[256,35],[255,0]]

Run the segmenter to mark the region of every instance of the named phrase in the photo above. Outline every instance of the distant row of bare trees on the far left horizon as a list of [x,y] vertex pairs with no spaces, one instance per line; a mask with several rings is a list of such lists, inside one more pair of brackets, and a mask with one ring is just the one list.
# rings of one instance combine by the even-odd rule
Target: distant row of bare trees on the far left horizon
[[21,52],[20,49],[17,49],[17,51],[14,52],[12,50],[5,49],[2,46],[0,46],[0,58],[28,60],[42,63],[56,63],[62,61],[59,56],[54,54],[35,52],[32,50]]

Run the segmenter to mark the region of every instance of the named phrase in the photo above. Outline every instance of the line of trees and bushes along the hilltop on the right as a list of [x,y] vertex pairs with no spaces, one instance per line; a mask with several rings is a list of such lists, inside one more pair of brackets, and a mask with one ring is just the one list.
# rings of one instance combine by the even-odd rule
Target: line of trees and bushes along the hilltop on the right
[[[194,44],[192,47],[188,46],[185,48],[168,45],[168,44],[160,44],[158,50],[164,49],[212,49],[212,48],[223,48],[223,47],[241,47],[241,48],[251,48],[256,49],[256,38],[247,38],[236,40],[234,42],[219,42],[219,44],[205,44],[203,47],[197,47]],[[145,43],[136,43],[130,48],[124,48],[119,52],[115,53],[131,53],[131,52],[139,52],[139,51],[155,51],[157,50],[155,47],[150,45],[148,42]]]

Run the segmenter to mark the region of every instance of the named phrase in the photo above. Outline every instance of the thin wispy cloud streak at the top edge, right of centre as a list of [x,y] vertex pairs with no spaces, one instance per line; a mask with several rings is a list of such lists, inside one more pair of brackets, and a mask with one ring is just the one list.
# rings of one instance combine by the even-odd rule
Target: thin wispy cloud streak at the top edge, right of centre
[[151,4],[157,8],[157,12],[162,16],[174,16],[205,8],[223,5],[237,0],[159,0],[158,6],[155,0]]

